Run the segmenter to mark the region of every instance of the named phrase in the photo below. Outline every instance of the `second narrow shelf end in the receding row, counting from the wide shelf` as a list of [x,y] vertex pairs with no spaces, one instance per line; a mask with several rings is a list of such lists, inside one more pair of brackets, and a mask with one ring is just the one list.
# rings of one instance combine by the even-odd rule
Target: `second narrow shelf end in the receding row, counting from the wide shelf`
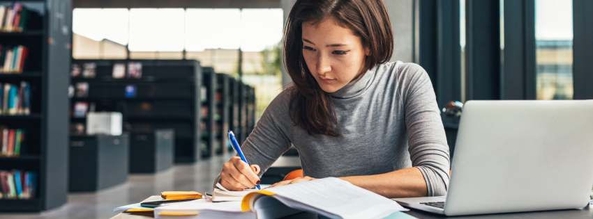
[[229,76],[227,74],[216,74],[216,140],[214,146],[216,154],[227,154],[229,131],[229,105],[232,97],[229,95]]

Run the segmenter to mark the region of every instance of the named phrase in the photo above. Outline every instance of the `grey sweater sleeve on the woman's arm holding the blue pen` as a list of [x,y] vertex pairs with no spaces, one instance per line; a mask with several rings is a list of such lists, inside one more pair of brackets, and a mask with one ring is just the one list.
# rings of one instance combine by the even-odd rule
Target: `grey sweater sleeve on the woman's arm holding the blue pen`
[[[250,165],[260,166],[260,177],[278,157],[290,148],[288,129],[292,122],[288,115],[290,90],[284,90],[276,96],[266,108],[255,128],[246,138],[241,150]],[[214,184],[220,181],[216,177]],[[216,187],[216,186],[215,186]]]

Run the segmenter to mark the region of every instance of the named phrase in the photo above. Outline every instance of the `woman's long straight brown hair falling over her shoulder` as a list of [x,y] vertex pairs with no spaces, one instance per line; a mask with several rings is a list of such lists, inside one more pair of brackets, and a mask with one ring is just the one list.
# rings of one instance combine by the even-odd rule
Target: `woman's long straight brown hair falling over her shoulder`
[[294,83],[290,88],[291,120],[309,134],[339,136],[331,96],[309,72],[302,50],[303,22],[316,23],[328,16],[351,29],[369,49],[363,72],[391,58],[393,33],[382,0],[298,0],[290,10],[284,31],[284,64]]

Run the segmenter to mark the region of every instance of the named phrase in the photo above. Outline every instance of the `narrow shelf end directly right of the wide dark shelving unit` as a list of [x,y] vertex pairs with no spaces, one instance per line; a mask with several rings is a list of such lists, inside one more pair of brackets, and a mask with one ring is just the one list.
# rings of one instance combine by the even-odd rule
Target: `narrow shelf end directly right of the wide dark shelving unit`
[[207,158],[212,156],[214,151],[216,72],[212,67],[203,67],[202,79],[202,92],[205,92],[205,95],[202,95],[202,124],[200,124],[202,143],[200,150],[202,151],[202,158]]

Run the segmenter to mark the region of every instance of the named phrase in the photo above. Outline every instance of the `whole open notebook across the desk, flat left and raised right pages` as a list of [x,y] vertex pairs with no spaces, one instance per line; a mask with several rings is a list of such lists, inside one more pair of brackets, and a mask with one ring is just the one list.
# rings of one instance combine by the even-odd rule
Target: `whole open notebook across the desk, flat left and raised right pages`
[[[241,202],[195,200],[155,209],[156,218],[281,218],[301,211],[328,218],[387,218],[407,211],[397,202],[338,178],[324,178],[265,188],[248,193]],[[401,214],[404,218],[409,218]]]

